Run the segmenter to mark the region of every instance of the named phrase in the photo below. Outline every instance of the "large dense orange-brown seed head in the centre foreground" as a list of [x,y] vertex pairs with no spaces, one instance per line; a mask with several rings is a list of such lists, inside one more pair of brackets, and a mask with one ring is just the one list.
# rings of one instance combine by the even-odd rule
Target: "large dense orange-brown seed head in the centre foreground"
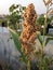
[[24,13],[23,31],[19,37],[22,43],[22,52],[27,55],[27,58],[34,52],[35,40],[37,39],[37,30],[40,30],[39,26],[36,26],[37,13],[32,3],[26,8]]

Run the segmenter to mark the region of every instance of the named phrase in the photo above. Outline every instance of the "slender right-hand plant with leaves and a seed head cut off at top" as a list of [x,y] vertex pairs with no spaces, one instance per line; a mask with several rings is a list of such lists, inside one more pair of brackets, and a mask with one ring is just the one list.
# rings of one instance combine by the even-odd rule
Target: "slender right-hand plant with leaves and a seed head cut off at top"
[[39,51],[36,53],[36,56],[38,57],[38,67],[39,70],[50,70],[50,66],[52,65],[52,57],[47,56],[47,54],[43,52],[44,46],[49,43],[50,40],[53,40],[53,37],[51,37],[49,33],[47,34],[45,39],[45,31],[47,31],[47,26],[48,26],[48,15],[49,12],[52,10],[50,6],[52,5],[52,0],[43,0],[44,5],[47,8],[45,12],[45,19],[44,19],[44,26],[43,26],[43,34],[41,37],[40,32],[37,32],[38,40],[40,42],[40,47]]

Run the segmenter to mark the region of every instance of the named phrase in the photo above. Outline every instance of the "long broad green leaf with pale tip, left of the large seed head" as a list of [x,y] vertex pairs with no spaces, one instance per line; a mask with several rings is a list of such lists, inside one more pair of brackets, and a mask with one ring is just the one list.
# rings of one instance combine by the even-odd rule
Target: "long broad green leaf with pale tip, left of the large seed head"
[[17,51],[21,53],[21,57],[23,58],[23,61],[25,61],[25,64],[27,64],[26,56],[21,51],[22,45],[21,45],[21,42],[18,41],[18,34],[10,28],[9,28],[9,30],[12,34],[12,38],[13,38],[13,41],[14,41],[14,44],[15,44]]

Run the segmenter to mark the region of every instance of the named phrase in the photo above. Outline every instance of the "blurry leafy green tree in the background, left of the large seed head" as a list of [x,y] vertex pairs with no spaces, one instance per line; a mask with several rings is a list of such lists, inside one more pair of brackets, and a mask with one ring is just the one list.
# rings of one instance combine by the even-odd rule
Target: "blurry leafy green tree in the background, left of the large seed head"
[[5,18],[8,20],[9,27],[12,29],[21,29],[21,23],[24,19],[23,13],[25,11],[26,6],[22,6],[21,4],[12,4],[9,9],[10,15],[8,15]]

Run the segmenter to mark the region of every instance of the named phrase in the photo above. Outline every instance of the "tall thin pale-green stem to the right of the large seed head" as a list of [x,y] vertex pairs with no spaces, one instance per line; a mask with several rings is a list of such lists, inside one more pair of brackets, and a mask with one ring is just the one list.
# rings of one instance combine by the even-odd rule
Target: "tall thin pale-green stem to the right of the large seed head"
[[47,18],[48,18],[48,6],[47,6],[47,13],[45,13],[45,20],[44,20],[44,28],[43,28],[43,42],[42,42],[42,48],[41,48],[41,60],[40,60],[40,65],[39,65],[39,70],[44,70],[43,68],[43,47],[44,47],[44,43],[45,43],[45,29],[47,29]]

